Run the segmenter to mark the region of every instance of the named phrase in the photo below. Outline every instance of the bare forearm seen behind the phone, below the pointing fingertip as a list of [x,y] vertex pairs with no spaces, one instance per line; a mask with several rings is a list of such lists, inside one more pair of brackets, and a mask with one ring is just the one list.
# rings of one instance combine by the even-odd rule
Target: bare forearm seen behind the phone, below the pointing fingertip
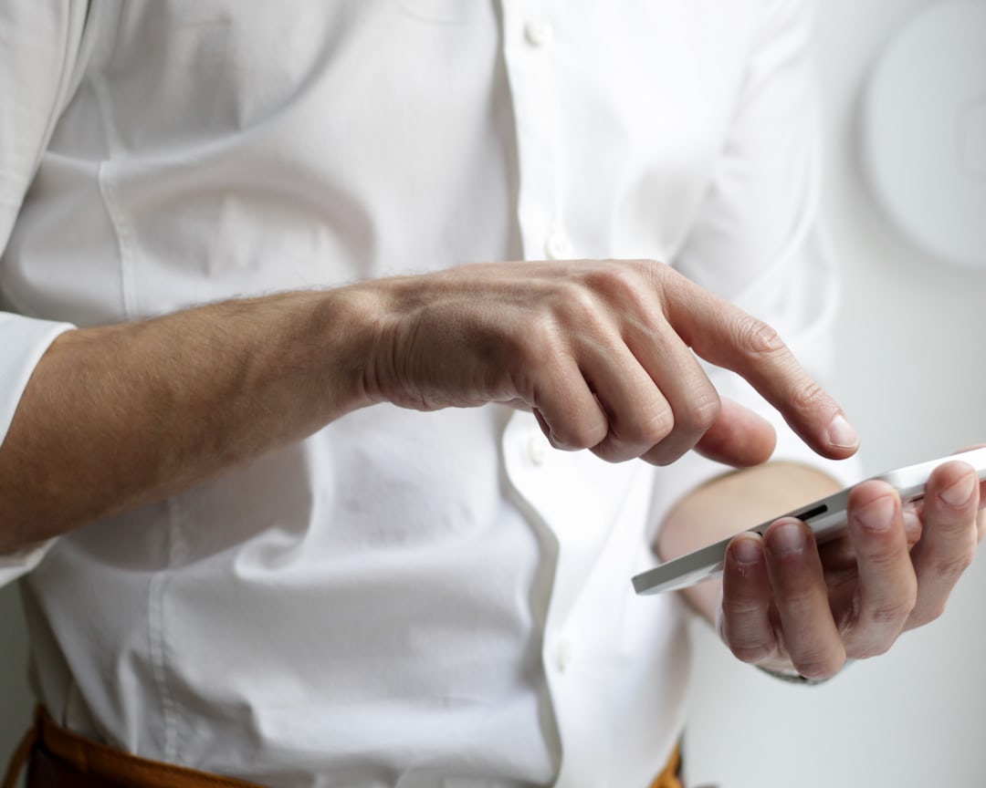
[[[661,529],[658,554],[665,560],[682,556],[838,489],[831,477],[796,463],[768,463],[730,473],[688,493],[671,510]],[[722,599],[719,580],[680,593],[715,622]]]

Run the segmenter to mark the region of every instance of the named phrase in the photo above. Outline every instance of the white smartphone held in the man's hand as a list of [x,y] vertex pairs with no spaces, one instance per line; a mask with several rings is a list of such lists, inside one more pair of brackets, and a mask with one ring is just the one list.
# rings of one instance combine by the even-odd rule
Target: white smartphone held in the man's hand
[[[880,479],[894,487],[900,493],[901,502],[911,503],[924,497],[925,484],[928,482],[931,472],[951,460],[967,462],[976,469],[980,480],[986,479],[986,447],[964,451],[960,454],[951,454],[948,457],[940,457],[937,460],[930,460],[917,465],[908,465],[905,468],[888,471],[873,478]],[[808,524],[814,534],[815,542],[819,545],[823,544],[845,532],[846,504],[849,501],[849,491],[851,490],[851,487],[846,488],[795,511],[783,515],[779,514],[777,517],[748,530],[762,534],[778,517],[797,517]],[[680,558],[674,558],[667,563],[662,563],[660,566],[636,575],[633,578],[634,590],[638,594],[657,594],[661,591],[686,588],[700,583],[702,580],[718,577],[723,573],[726,548],[732,539],[733,537],[724,539],[714,545],[709,545]]]

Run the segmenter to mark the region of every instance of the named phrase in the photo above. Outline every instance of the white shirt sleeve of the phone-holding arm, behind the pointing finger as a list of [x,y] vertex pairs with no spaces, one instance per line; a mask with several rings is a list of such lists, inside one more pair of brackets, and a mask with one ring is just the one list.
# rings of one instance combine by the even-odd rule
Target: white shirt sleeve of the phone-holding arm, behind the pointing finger
[[[838,275],[819,216],[822,157],[812,12],[805,0],[763,3],[733,123],[674,265],[767,321],[824,385]],[[807,463],[842,484],[857,481],[856,461],[819,457],[739,375],[705,368],[723,396],[774,425],[773,460]],[[726,470],[690,452],[660,472],[653,522],[663,522],[683,494]]]

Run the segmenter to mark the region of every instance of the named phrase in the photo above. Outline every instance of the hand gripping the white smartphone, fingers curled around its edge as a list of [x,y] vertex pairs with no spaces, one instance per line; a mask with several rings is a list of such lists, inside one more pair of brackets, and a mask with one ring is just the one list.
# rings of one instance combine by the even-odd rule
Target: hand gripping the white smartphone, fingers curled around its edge
[[986,533],[986,485],[962,462],[932,474],[924,500],[901,507],[889,485],[849,498],[848,535],[816,548],[808,527],[778,520],[740,534],[723,573],[719,631],[744,662],[827,678],[847,657],[886,651],[945,610]]

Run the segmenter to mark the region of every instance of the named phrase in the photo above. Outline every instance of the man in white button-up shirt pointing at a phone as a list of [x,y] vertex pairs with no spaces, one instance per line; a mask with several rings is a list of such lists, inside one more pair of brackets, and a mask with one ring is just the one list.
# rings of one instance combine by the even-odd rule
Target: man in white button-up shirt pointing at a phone
[[[795,361],[834,292],[803,4],[2,13],[0,552],[45,725],[189,780],[648,784],[687,648],[630,576],[852,476]],[[852,504],[831,600],[793,522],[693,594],[741,659],[825,678],[937,615],[971,469],[910,551],[891,491]]]

